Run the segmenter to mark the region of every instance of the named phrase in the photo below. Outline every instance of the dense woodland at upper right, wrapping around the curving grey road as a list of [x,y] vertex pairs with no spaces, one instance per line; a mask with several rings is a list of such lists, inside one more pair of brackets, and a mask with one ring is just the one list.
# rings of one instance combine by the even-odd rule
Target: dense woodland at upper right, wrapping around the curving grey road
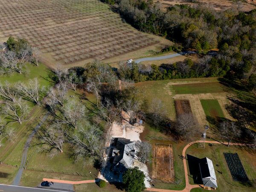
[[[168,38],[176,43],[163,51],[194,49],[201,56],[196,62],[187,59],[172,66],[151,67],[133,65],[121,67],[119,76],[134,81],[215,77],[232,74],[246,79],[248,87],[255,87],[256,65],[256,9],[239,12],[239,6],[215,11],[204,6],[175,5],[166,12],[160,4],[144,0],[106,0],[114,4],[120,15],[135,28]],[[219,49],[214,57],[210,49]]]

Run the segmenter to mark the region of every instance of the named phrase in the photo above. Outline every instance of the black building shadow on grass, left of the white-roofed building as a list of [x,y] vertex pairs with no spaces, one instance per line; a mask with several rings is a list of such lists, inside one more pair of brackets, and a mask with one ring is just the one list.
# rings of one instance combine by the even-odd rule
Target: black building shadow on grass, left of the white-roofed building
[[188,164],[189,164],[189,172],[192,175],[194,183],[203,184],[200,168],[199,168],[199,158],[194,157],[192,155],[187,154]]

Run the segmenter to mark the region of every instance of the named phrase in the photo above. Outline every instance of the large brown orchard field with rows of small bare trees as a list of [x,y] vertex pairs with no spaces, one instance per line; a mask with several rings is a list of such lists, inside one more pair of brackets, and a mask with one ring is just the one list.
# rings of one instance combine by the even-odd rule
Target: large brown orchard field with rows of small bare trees
[[99,0],[0,0],[0,41],[25,38],[44,59],[72,64],[155,44]]

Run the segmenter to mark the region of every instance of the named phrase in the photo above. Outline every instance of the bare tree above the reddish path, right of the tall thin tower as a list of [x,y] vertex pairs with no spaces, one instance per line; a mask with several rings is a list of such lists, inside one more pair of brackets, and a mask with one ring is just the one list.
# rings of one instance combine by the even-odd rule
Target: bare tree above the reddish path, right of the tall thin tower
[[220,124],[220,134],[227,140],[229,146],[233,139],[240,137],[241,130],[236,126],[236,122],[224,121]]

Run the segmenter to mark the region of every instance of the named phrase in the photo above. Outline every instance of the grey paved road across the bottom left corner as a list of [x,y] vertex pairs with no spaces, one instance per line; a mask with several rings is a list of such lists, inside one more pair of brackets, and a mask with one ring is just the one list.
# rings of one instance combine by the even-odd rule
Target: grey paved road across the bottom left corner
[[0,192],[67,192],[67,191],[0,184]]

